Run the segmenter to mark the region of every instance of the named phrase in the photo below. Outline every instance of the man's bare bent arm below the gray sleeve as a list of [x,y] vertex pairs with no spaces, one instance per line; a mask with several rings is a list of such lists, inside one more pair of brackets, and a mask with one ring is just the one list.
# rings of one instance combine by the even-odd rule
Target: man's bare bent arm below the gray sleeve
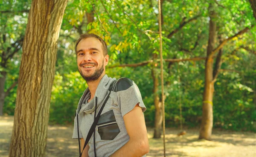
[[130,140],[111,157],[141,157],[147,154],[149,151],[147,129],[140,106],[136,105],[123,118]]

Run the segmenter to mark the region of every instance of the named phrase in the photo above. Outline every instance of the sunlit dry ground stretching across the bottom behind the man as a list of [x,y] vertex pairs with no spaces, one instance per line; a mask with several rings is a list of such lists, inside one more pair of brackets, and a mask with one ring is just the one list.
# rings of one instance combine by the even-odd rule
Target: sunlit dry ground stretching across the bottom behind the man
[[[8,157],[13,116],[0,116],[0,157]],[[78,157],[78,141],[71,139],[73,126],[48,128],[46,157]],[[256,134],[213,130],[212,141],[198,140],[198,130],[186,130],[178,137],[177,129],[166,129],[166,157],[256,157]],[[163,156],[163,139],[152,139],[148,129],[150,151],[147,157]]]

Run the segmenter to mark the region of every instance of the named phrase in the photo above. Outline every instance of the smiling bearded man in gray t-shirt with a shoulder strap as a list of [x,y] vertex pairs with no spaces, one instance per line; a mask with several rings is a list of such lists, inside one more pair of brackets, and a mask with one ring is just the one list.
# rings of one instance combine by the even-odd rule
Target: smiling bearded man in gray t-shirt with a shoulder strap
[[[72,137],[78,138],[79,134],[82,151],[95,115],[102,107],[111,83],[116,79],[105,75],[109,55],[107,44],[99,36],[81,35],[76,42],[76,54],[79,72],[88,84],[76,110],[79,127],[75,117]],[[120,78],[110,93],[82,157],[145,156],[149,151],[143,115],[145,110],[137,85],[131,79]]]

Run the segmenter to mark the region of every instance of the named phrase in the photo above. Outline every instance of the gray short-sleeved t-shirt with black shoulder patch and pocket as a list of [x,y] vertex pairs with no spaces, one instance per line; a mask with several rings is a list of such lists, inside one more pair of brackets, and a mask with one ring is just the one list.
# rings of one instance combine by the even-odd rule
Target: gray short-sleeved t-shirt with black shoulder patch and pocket
[[[90,90],[87,88],[84,91],[78,105],[79,113],[79,137],[87,137],[89,129],[94,121],[94,111],[97,99],[96,115],[102,106],[105,96],[108,94],[108,88],[112,81],[116,78],[109,78],[105,75],[100,81],[94,98],[90,99]],[[128,78],[120,78],[116,83],[116,88],[111,91],[109,99],[102,110],[101,116],[96,126],[95,131],[95,145],[96,155],[98,157],[108,157],[121,148],[130,139],[127,134],[123,116],[130,112],[135,105],[139,105],[143,112],[146,107],[141,98],[140,90],[137,85]],[[74,119],[74,131],[72,138],[78,138],[76,117]],[[90,157],[94,156],[93,150],[93,136],[90,138],[88,154]],[[145,157],[145,155],[143,156]]]

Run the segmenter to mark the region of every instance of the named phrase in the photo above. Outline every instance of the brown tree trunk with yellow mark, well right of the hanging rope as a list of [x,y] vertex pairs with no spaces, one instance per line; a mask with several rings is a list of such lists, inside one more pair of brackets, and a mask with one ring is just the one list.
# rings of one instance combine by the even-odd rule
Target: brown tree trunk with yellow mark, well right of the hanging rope
[[212,99],[214,92],[213,82],[213,55],[212,50],[215,46],[216,40],[216,13],[212,4],[209,5],[209,39],[207,47],[207,59],[205,61],[205,84],[203,95],[203,115],[199,133],[199,139],[211,140],[212,125],[213,125],[213,113],[212,113]]

